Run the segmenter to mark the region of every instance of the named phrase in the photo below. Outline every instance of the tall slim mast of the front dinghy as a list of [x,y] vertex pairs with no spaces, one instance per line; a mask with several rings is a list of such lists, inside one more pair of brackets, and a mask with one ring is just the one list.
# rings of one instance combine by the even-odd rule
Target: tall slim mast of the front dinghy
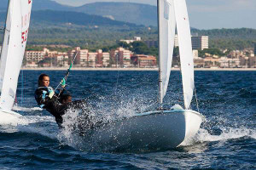
[[159,103],[160,107],[163,104],[163,93],[162,93],[162,86],[163,86],[163,77],[162,77],[162,69],[161,69],[161,62],[160,62],[160,47],[161,47],[161,41],[160,41],[160,1],[157,0],[157,20],[158,20],[158,65],[159,65]]

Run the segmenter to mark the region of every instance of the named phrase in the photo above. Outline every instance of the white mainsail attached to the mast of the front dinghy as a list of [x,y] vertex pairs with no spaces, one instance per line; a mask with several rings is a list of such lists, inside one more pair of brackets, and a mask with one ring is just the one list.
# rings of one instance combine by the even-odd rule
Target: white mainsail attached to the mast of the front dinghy
[[160,103],[166,95],[172,67],[175,37],[175,14],[173,0],[159,0],[159,59],[160,59]]

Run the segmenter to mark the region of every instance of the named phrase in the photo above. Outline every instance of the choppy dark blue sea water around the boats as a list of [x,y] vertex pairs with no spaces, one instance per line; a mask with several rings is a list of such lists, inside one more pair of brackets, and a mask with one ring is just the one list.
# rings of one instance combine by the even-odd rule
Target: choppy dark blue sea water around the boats
[[[115,150],[114,144],[102,149],[93,139],[59,131],[33,98],[42,72],[20,72],[15,109],[24,118],[18,125],[0,124],[0,169],[256,168],[256,71],[195,71],[199,108],[207,120],[191,143],[169,150]],[[65,73],[44,72],[52,87]],[[88,99],[98,116],[131,116],[156,107],[157,74],[72,71],[67,89],[73,99]],[[172,71],[170,80],[166,108],[183,105],[179,71]],[[196,110],[195,99],[192,107]]]

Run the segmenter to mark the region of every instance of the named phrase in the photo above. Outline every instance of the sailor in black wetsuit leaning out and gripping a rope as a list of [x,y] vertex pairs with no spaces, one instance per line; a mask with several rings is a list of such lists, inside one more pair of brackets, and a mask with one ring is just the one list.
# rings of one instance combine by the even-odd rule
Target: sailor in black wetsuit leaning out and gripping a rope
[[[63,82],[64,81],[64,82]],[[61,82],[61,88],[65,88],[65,80]],[[55,116],[55,121],[58,126],[61,127],[63,122],[62,116],[65,114],[65,111],[68,109],[68,103],[61,103],[59,97],[63,95],[63,90],[61,93],[57,94],[54,88],[49,86],[49,76],[46,74],[41,74],[38,77],[38,88],[35,91],[35,99],[38,102],[38,105],[49,111],[53,116]]]

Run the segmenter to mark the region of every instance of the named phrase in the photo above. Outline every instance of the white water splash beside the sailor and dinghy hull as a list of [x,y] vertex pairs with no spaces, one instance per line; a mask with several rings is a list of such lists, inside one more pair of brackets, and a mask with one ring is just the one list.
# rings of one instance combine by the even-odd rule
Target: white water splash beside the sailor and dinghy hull
[[[96,104],[84,105],[83,109],[70,109],[63,116],[63,128],[59,139],[61,142],[79,150],[115,150],[119,147],[118,145],[129,144],[127,139],[120,141],[122,144],[117,145],[102,143],[101,140],[105,137],[102,135],[91,137],[90,128],[104,126],[111,122],[135,116],[139,109],[140,111],[146,111],[149,107],[152,107],[152,103],[144,105],[144,101],[144,99],[138,100],[135,98],[116,100],[115,98],[102,97]],[[94,106],[92,107],[92,105]],[[81,129],[83,133],[80,133]],[[89,132],[86,129],[89,129]],[[112,130],[115,129],[108,129],[108,132]]]

